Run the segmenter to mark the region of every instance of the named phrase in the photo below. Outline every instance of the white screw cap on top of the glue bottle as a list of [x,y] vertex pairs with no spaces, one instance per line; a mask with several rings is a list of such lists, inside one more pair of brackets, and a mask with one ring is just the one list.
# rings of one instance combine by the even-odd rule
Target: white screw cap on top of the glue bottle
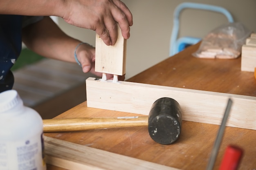
[[10,110],[19,104],[23,104],[23,102],[16,90],[0,93],[0,112]]

